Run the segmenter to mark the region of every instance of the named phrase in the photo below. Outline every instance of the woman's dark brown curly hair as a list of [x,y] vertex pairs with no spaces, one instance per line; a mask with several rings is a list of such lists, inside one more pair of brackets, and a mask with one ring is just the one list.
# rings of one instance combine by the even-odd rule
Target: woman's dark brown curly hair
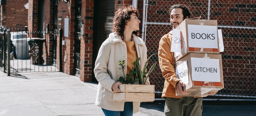
[[[115,16],[113,18],[112,32],[116,32],[117,35],[123,37],[124,27],[125,27],[126,23],[131,19],[130,15],[132,13],[135,13],[137,15],[137,17],[140,16],[138,8],[136,8],[132,5],[119,6],[116,9]],[[139,34],[137,31],[133,31],[132,33],[135,35]]]

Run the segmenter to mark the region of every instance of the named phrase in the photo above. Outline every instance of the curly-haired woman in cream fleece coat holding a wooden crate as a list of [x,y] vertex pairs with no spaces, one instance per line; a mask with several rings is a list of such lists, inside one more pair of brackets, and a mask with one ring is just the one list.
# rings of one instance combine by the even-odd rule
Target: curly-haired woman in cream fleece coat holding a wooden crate
[[[113,18],[112,33],[100,46],[95,61],[94,74],[99,82],[95,104],[102,108],[106,116],[132,116],[139,111],[140,102],[113,100],[113,93],[121,92],[118,86],[122,83],[118,80],[123,76],[123,70],[118,61],[125,60],[124,73],[128,74],[137,57],[141,58],[140,66],[144,66],[147,60],[147,47],[136,36],[136,30],[140,29],[138,16],[138,9],[132,5],[118,7]],[[149,84],[147,79],[146,85]]]

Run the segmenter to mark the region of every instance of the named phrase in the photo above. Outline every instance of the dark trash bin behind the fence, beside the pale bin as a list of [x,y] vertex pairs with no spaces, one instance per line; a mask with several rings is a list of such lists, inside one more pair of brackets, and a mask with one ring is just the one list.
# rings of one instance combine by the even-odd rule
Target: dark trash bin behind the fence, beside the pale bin
[[29,44],[29,56],[31,64],[39,65],[44,64],[43,59],[43,43],[45,42],[45,38],[30,38],[28,39]]

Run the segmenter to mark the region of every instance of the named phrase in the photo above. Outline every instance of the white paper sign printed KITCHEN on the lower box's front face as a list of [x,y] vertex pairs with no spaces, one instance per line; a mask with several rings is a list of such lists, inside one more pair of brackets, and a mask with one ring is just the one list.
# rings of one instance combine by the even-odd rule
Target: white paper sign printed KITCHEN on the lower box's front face
[[192,81],[220,82],[219,59],[191,58]]

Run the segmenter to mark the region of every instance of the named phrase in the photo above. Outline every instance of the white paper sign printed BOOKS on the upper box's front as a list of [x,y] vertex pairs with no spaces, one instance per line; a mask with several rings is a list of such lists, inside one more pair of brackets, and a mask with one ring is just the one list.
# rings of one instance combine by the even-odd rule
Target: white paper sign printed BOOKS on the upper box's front
[[217,26],[188,25],[189,47],[218,48]]

